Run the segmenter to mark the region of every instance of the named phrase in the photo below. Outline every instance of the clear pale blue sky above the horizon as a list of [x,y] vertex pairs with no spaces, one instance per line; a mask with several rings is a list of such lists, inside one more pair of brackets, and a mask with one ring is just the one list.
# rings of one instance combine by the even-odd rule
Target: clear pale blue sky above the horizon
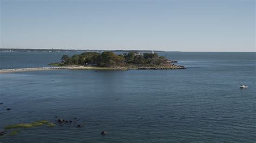
[[0,0],[1,48],[255,52],[254,0]]

